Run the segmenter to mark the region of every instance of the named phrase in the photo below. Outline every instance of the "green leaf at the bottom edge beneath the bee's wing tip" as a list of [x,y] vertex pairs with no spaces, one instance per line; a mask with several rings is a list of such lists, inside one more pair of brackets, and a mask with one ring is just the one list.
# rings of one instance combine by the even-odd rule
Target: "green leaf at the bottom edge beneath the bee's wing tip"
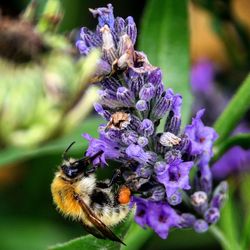
[[[117,226],[113,232],[121,239],[124,238],[130,225],[133,213],[126,219],[124,223]],[[121,244],[111,240],[97,239],[92,235],[86,235],[63,244],[57,244],[49,247],[49,250],[76,250],[76,249],[91,249],[91,250],[118,250],[121,248]]]

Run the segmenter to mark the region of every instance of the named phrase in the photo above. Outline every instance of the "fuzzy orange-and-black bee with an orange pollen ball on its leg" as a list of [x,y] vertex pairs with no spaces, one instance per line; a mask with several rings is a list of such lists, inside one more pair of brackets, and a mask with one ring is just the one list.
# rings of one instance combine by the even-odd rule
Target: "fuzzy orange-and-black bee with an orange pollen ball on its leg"
[[121,186],[116,192],[113,190],[120,171],[109,181],[97,181],[91,163],[103,151],[78,160],[68,159],[66,153],[73,144],[64,151],[64,161],[51,184],[54,203],[62,214],[81,221],[86,231],[95,237],[124,244],[109,228],[129,213],[129,189]]

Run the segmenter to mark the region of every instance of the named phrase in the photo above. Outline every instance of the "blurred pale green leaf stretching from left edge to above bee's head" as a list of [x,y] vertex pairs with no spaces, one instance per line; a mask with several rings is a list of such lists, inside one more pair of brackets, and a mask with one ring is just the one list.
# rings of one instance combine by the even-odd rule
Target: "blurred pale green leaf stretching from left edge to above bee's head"
[[37,148],[7,148],[2,150],[0,152],[0,168],[7,164],[38,155],[62,153],[72,141],[76,141],[76,145],[72,148],[72,152],[83,152],[88,142],[83,140],[81,135],[83,133],[90,133],[92,136],[97,136],[97,127],[100,122],[101,120],[99,118],[87,119],[71,133]]

